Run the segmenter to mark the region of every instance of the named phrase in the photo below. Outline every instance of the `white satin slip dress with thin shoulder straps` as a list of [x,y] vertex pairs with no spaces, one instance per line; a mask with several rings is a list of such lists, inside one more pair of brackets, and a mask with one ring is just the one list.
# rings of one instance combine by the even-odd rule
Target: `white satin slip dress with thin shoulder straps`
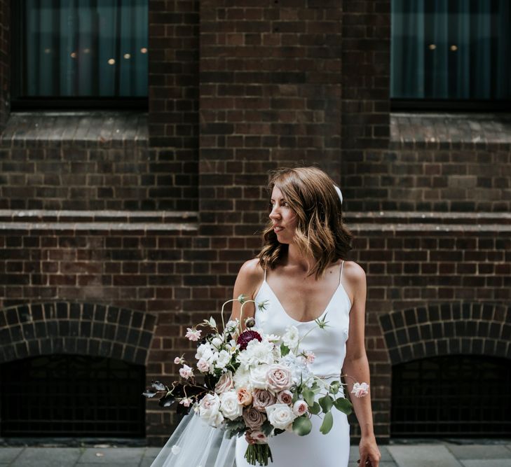
[[[275,293],[266,282],[266,270],[264,281],[257,292],[254,300],[256,312],[254,319],[255,328],[261,329],[266,334],[283,335],[288,326],[296,326],[299,335],[304,336],[301,340],[300,349],[313,351],[315,360],[310,367],[318,377],[332,382],[340,380],[341,369],[346,356],[346,340],[348,340],[349,316],[352,303],[341,284],[344,261],[341,263],[339,272],[339,286],[330,299],[325,310],[318,316],[325,319],[328,326],[320,329],[315,321],[297,321],[293,319],[280,304]],[[268,300],[265,310],[259,310],[257,303]],[[325,391],[322,391],[324,393]],[[343,386],[337,397],[343,396]],[[317,396],[319,397],[319,396]],[[268,445],[271,449],[273,461],[268,466],[273,467],[347,467],[350,453],[350,425],[346,414],[332,408],[334,425],[326,435],[320,433],[323,415],[313,415],[311,421],[313,428],[311,433],[298,436],[294,433],[284,432],[269,438]],[[247,442],[244,436],[236,438],[236,467],[252,467],[245,459]]]

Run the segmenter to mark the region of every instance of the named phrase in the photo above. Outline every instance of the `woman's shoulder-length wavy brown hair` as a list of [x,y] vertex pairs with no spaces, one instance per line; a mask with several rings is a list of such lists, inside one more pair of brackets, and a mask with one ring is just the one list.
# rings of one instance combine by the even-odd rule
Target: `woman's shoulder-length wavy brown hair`
[[[271,173],[268,190],[277,187],[297,214],[294,243],[299,251],[315,259],[308,275],[320,279],[329,265],[346,259],[353,234],[343,223],[342,205],[334,181],[318,167],[280,168]],[[264,246],[257,255],[264,269],[274,269],[287,253],[278,242],[271,220],[263,231]]]

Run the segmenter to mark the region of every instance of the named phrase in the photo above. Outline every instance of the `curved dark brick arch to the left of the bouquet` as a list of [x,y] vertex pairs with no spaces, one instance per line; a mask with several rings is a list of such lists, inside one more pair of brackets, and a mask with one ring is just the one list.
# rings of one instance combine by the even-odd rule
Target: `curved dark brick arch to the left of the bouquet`
[[109,305],[48,302],[0,310],[0,363],[48,354],[144,365],[156,316]]

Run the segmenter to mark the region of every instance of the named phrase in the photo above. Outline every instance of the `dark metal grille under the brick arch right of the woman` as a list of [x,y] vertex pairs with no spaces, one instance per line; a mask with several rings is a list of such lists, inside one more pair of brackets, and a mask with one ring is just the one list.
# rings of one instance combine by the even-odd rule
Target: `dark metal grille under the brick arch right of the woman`
[[510,362],[454,355],[395,365],[390,433],[407,438],[510,436]]

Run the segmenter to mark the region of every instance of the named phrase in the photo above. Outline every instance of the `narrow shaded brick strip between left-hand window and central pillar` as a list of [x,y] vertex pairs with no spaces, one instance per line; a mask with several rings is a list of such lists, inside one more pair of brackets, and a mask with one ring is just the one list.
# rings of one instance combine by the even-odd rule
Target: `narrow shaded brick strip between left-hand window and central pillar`
[[163,209],[197,209],[198,4],[149,1],[149,158]]

